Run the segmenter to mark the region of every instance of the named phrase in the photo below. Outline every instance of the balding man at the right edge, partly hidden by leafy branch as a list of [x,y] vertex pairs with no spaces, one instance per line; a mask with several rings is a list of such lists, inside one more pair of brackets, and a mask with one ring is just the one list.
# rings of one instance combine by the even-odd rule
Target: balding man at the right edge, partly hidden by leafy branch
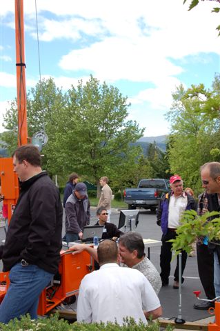
[[[197,209],[197,213],[201,216],[206,212],[220,211],[220,163],[205,163],[200,171],[202,187],[205,189],[205,192],[199,196]],[[197,243],[199,277],[208,299],[220,295],[219,248],[217,242],[208,243],[207,237]],[[208,310],[211,307],[214,307],[214,303],[209,301],[194,304],[194,308],[199,310]]]

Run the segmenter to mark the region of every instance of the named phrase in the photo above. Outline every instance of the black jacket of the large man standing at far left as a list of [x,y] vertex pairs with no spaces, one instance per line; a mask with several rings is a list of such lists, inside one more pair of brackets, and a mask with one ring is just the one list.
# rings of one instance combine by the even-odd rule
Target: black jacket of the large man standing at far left
[[6,243],[0,246],[3,271],[25,259],[55,274],[62,247],[62,214],[59,190],[46,172],[21,183]]

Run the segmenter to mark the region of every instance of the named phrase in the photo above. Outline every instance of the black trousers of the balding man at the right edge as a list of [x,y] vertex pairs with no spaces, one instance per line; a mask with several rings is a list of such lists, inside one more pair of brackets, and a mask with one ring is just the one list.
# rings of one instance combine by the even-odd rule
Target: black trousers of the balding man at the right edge
[[208,299],[215,298],[214,292],[214,257],[208,245],[197,244],[197,263],[199,278]]

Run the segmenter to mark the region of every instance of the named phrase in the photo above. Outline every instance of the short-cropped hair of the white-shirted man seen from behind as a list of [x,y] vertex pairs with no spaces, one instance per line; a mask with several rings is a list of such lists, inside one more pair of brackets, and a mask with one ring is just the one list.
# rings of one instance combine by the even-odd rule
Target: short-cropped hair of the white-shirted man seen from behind
[[99,265],[117,262],[118,257],[117,242],[112,239],[105,239],[99,243],[97,248]]

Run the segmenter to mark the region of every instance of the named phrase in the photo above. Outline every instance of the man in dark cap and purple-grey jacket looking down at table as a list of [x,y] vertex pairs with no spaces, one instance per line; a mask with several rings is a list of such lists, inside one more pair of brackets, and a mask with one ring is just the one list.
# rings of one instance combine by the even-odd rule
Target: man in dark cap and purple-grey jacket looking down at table
[[86,184],[77,183],[66,201],[65,210],[66,242],[82,239],[84,226],[90,224],[90,201]]

